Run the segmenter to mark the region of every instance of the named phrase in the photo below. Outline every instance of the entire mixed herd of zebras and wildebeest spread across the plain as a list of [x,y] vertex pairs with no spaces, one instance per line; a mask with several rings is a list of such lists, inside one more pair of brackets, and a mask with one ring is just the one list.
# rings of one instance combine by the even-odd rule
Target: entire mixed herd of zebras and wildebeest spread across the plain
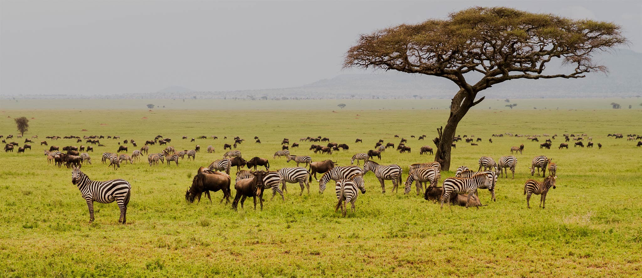
[[[549,136],[548,134],[543,135],[513,135],[510,133],[506,134],[493,134],[492,137],[503,137],[514,136],[514,137],[526,137],[531,141],[539,141],[538,137],[550,137],[541,144],[540,148],[550,148],[552,143],[551,139],[555,139],[557,134]],[[564,134],[565,141],[569,141],[571,138],[576,141],[575,146],[584,146],[582,141],[587,137],[586,134],[575,135],[575,134]],[[622,134],[609,134],[609,137],[623,138]],[[0,135],[0,137],[3,137]],[[13,136],[8,135],[6,139],[11,139]],[[395,135],[395,137],[399,137]],[[415,136],[411,136],[415,137]],[[419,140],[423,140],[426,135],[419,136]],[[480,138],[474,140],[467,135],[460,137],[459,135],[453,140],[453,146],[455,146],[456,141],[465,139],[467,142],[479,142],[482,141]],[[629,134],[629,140],[634,140],[634,138],[642,139],[641,135]],[[36,135],[32,139],[37,138]],[[58,136],[48,136],[48,139],[57,140],[60,139]],[[100,139],[105,138],[102,135],[95,136],[85,136],[86,143],[89,144],[99,144]],[[218,139],[216,136],[212,136],[212,139]],[[77,139],[77,143],[81,143],[82,139],[76,136],[65,136],[64,139]],[[107,139],[119,139],[119,136],[107,136]],[[183,136],[182,139],[187,139],[186,136]],[[207,139],[207,136],[201,136],[199,139]],[[227,139],[227,137],[224,137]],[[255,137],[255,143],[261,143],[258,137]],[[587,147],[593,146],[591,142],[591,137],[587,137],[589,143]],[[192,138],[191,141],[195,141],[195,138]],[[385,181],[390,180],[392,182],[392,191],[397,192],[398,187],[403,182],[404,185],[404,194],[408,194],[412,188],[413,183],[417,190],[417,195],[423,192],[424,199],[433,200],[439,202],[440,206],[443,208],[444,203],[449,203],[453,205],[460,206],[482,206],[480,198],[478,197],[478,189],[487,189],[491,194],[492,201],[496,201],[495,189],[498,181],[498,177],[508,178],[508,170],[512,172],[512,178],[515,178],[515,171],[517,166],[517,158],[513,153],[519,152],[520,154],[524,151],[524,144],[521,146],[513,146],[510,148],[511,155],[506,155],[500,157],[498,160],[494,160],[492,157],[481,157],[478,160],[479,167],[477,171],[471,170],[469,167],[460,166],[456,169],[455,176],[451,178],[446,178],[442,181],[442,187],[438,187],[438,183],[441,178],[441,165],[438,162],[428,162],[428,163],[417,163],[411,164],[408,166],[409,171],[406,176],[406,180],[403,181],[403,168],[397,164],[390,165],[381,165],[375,162],[373,159],[375,157],[381,160],[381,153],[384,152],[387,148],[395,148],[394,143],[384,144],[383,140],[379,140],[375,144],[375,150],[369,150],[367,153],[356,153],[351,158],[351,165],[349,166],[339,166],[337,162],[332,160],[325,159],[322,161],[313,161],[313,158],[309,155],[297,156],[291,155],[289,148],[298,147],[298,143],[293,143],[290,145],[290,141],[287,138],[284,138],[281,141],[282,148],[279,151],[276,151],[272,157],[274,158],[286,158],[286,162],[294,161],[297,164],[297,167],[284,167],[279,170],[270,170],[270,161],[268,158],[253,157],[250,160],[245,160],[242,157],[241,151],[232,150],[236,149],[238,144],[243,143],[243,139],[239,137],[234,137],[234,144],[224,144],[223,150],[229,148],[230,151],[227,151],[223,154],[223,158],[214,160],[208,167],[200,167],[196,172],[191,187],[186,190],[185,198],[186,201],[192,202],[197,199],[200,201],[202,194],[209,198],[210,191],[217,192],[221,190],[223,192],[223,200],[226,200],[226,203],[229,203],[231,197],[231,184],[232,178],[230,177],[231,167],[237,167],[236,180],[234,180],[234,189],[236,189],[236,196],[232,201],[232,208],[237,209],[238,203],[240,201],[241,208],[243,208],[243,203],[247,197],[252,197],[254,199],[254,208],[256,209],[257,198],[263,209],[263,193],[265,190],[272,189],[272,198],[276,194],[280,194],[281,198],[284,199],[284,191],[287,192],[286,184],[287,183],[299,183],[300,185],[300,195],[304,193],[304,190],[307,188],[309,194],[309,183],[312,181],[314,176],[315,180],[319,182],[319,193],[322,194],[325,190],[327,183],[330,180],[334,181],[335,193],[337,197],[337,203],[335,210],[342,210],[343,216],[347,213],[347,205],[351,206],[352,211],[355,209],[355,201],[359,195],[365,194],[365,182],[363,176],[369,172],[372,172],[376,176],[377,180],[381,185],[382,193],[385,193]],[[302,137],[300,141],[311,141],[311,142],[328,142],[327,145],[318,145],[312,144],[309,150],[313,153],[320,154],[331,154],[333,151],[343,150],[348,151],[349,146],[347,144],[338,144],[331,143],[330,139],[327,137]],[[4,140],[3,140],[4,142]],[[433,140],[436,144],[438,143],[438,138]],[[492,139],[489,139],[489,142],[492,143]],[[25,143],[33,143],[30,139],[26,139]],[[157,135],[154,140],[146,141],[144,146],[140,149],[134,150],[132,155],[126,153],[119,154],[119,152],[128,151],[128,147],[125,144],[132,144],[132,146],[137,148],[137,145],[134,140],[125,140],[123,144],[118,142],[118,149],[116,153],[105,152],[102,154],[101,161],[103,164],[109,162],[108,167],[114,167],[117,169],[120,167],[121,162],[128,162],[134,164],[135,161],[139,160],[140,157],[144,154],[148,155],[148,163],[150,166],[156,164],[164,163],[165,160],[168,163],[168,166],[171,162],[175,162],[178,165],[178,158],[184,158],[187,156],[187,160],[190,158],[196,158],[196,153],[200,151],[200,146],[196,145],[193,150],[184,150],[177,151],[173,146],[165,146],[159,153],[148,153],[150,146],[154,144],[167,145],[171,143],[171,139],[164,139],[162,135]],[[355,143],[363,143],[361,139],[356,139]],[[407,139],[401,138],[399,144],[397,144],[397,150],[400,153],[408,152],[410,153],[411,149],[408,146],[405,146]],[[578,144],[579,143],[579,144]],[[44,144],[48,146],[46,141],[42,141],[41,145]],[[473,143],[474,145],[475,143]],[[545,145],[546,144],[546,145]],[[17,143],[8,143],[5,146],[5,151],[12,151],[12,147],[17,146]],[[30,149],[30,145],[26,145]],[[21,152],[24,151],[25,147],[21,147]],[[638,146],[642,146],[642,141],[638,143]],[[561,148],[568,148],[568,144],[560,144]],[[598,147],[601,148],[602,144],[598,143]],[[109,180],[109,181],[92,181],[86,174],[80,171],[83,163],[91,164],[91,157],[89,156],[89,151],[93,152],[92,146],[65,146],[62,148],[62,153],[58,146],[49,146],[48,150],[44,150],[44,154],[48,158],[48,163],[55,163],[56,166],[62,167],[62,164],[65,164],[68,168],[72,169],[72,183],[77,185],[78,189],[82,192],[82,196],[87,202],[89,207],[90,222],[94,220],[93,212],[93,202],[99,203],[112,203],[113,201],[117,202],[121,210],[121,215],[119,222],[126,222],[126,207],[130,199],[130,190],[131,185],[128,181],[122,179]],[[82,152],[86,151],[86,152]],[[207,147],[208,153],[215,153],[213,146]],[[433,153],[433,149],[430,146],[422,146],[420,154],[424,153]],[[363,161],[363,166],[359,167],[353,165],[356,161],[357,165],[360,165],[360,160]],[[299,167],[300,164],[305,164],[304,167]],[[257,169],[257,166],[265,167],[263,169]],[[247,167],[248,170],[241,170],[241,167]],[[539,176],[540,171],[542,178],[544,180],[527,180],[524,186],[524,194],[526,195],[526,206],[530,208],[530,197],[532,194],[541,195],[540,206],[541,208],[545,207],[546,204],[546,194],[552,187],[555,189],[555,181],[557,180],[557,164],[551,161],[551,158],[547,158],[544,155],[536,156],[531,161],[531,167],[529,167],[531,175],[534,176],[535,170],[537,169],[537,174]],[[546,176],[546,171],[549,172],[549,175]],[[322,174],[321,178],[317,178],[317,174]],[[505,175],[505,176],[504,176]]]

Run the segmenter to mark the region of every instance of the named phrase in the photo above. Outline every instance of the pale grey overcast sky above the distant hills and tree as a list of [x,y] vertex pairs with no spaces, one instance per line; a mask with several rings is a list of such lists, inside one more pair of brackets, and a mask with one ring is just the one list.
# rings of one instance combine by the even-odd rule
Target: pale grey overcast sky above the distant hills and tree
[[300,86],[346,73],[343,54],[360,33],[470,6],[612,21],[642,52],[640,3],[0,0],[0,94]]

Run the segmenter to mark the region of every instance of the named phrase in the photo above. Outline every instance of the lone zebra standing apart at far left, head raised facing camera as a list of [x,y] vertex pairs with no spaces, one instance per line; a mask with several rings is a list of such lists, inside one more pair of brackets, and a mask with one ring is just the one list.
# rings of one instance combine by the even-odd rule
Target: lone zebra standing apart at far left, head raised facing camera
[[119,223],[127,221],[127,204],[132,194],[132,185],[126,180],[116,179],[108,181],[95,181],[89,179],[80,168],[71,170],[71,183],[76,185],[89,208],[89,223],[94,222],[94,202],[108,204],[116,201],[121,210]]

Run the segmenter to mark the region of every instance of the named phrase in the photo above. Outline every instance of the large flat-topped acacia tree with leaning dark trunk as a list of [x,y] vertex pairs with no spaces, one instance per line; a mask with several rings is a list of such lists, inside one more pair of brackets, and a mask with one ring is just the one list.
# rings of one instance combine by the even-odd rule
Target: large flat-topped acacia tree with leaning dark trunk
[[[504,7],[474,7],[361,35],[345,55],[344,68],[360,67],[421,73],[449,79],[459,87],[439,139],[435,161],[450,168],[451,143],[459,121],[484,97],[484,89],[512,79],[580,78],[603,72],[594,52],[627,43],[621,26],[611,22],[573,20],[552,14]],[[548,73],[546,65],[561,59],[573,70]]]

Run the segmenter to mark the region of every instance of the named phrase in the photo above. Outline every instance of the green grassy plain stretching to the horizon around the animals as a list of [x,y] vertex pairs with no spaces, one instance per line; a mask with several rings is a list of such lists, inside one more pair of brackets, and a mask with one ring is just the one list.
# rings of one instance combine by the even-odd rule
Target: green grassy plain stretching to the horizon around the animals
[[[480,105],[487,102],[485,106],[495,101]],[[572,102],[552,101],[548,106],[571,107]],[[388,103],[381,100],[375,105]],[[270,192],[263,211],[253,210],[250,199],[245,210],[239,207],[234,212],[230,205],[218,203],[220,192],[213,194],[212,204],[207,199],[193,204],[184,199],[196,169],[222,157],[223,143],[231,142],[223,136],[247,139],[238,148],[243,157],[270,158],[272,169],[279,169],[295,166],[272,158],[283,137],[298,142],[300,137],[322,135],[347,143],[350,151],[333,155],[314,155],[309,143],[290,150],[346,165],[354,153],[372,149],[378,139],[399,143],[394,138],[399,134],[408,139],[412,153],[388,150],[381,163],[403,166],[405,180],[409,164],[433,160],[419,155],[419,147],[433,146],[430,139],[448,113],[446,109],[420,111],[417,106],[416,110],[381,111],[355,111],[348,106],[314,111],[150,112],[11,110],[3,104],[0,134],[5,136],[17,134],[13,118],[26,116],[31,127],[25,137],[39,135],[38,141],[46,135],[119,135],[135,139],[140,146],[162,134],[171,137],[171,145],[178,150],[191,150],[195,144],[180,139],[182,135],[220,139],[197,139],[203,151],[195,162],[150,167],[141,161],[116,171],[101,164],[100,155],[115,152],[118,140],[101,139],[106,146],[90,153],[93,164],[84,165],[82,171],[94,180],[130,181],[126,225],[117,224],[115,203],[95,203],[96,221],[88,224],[87,205],[71,184],[71,170],[48,165],[37,143],[24,154],[0,153],[0,276],[632,277],[642,271],[642,148],[635,146],[637,141],[606,137],[613,132],[642,134],[641,109],[469,112],[457,134],[483,141],[480,146],[458,143],[454,166],[473,168],[482,155],[497,159],[507,155],[510,146],[526,146],[523,155],[517,155],[515,179],[498,181],[496,202],[490,201],[487,190],[480,191],[487,205],[480,209],[448,206],[441,210],[415,196],[414,189],[408,195],[391,192],[390,181],[389,190],[381,194],[372,173],[365,176],[367,193],[360,195],[356,212],[346,218],[334,212],[333,190],[319,195],[317,182],[311,184],[311,194],[303,196],[298,194],[299,185],[288,185],[285,201],[270,201]],[[229,106],[234,108],[240,107]],[[491,134],[504,132],[587,133],[603,148],[541,150],[539,143],[517,137],[493,137],[494,143],[488,143]],[[422,134],[428,135],[426,141],[410,138]],[[254,144],[255,135],[263,144]],[[355,144],[356,137],[364,143]],[[559,137],[553,145],[562,141]],[[52,144],[78,145],[65,139],[49,141]],[[216,153],[205,151],[209,144]],[[156,145],[150,151],[161,149]],[[546,210],[537,208],[539,196],[532,199],[531,209],[526,208],[523,195],[535,155],[547,155],[559,164],[557,189],[549,192]],[[453,174],[444,172],[442,179]]]

